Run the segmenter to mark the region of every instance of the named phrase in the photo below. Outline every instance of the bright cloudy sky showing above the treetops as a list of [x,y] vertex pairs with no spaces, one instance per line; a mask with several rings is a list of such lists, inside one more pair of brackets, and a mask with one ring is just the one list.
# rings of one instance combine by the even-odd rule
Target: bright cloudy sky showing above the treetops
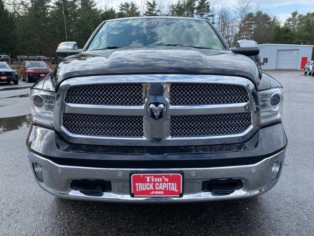
[[[101,8],[114,7],[117,8],[120,2],[124,2],[125,0],[96,0],[98,2],[98,6]],[[169,3],[174,3],[176,0],[157,0],[157,2],[164,2],[165,5]],[[232,6],[237,2],[237,0],[209,0],[214,3],[215,6],[219,6],[221,4],[226,4],[227,6]],[[139,6],[143,5],[145,0],[133,0]],[[308,11],[314,11],[314,4],[311,0],[251,0],[252,4],[259,4],[262,9],[269,12],[271,15],[277,15],[281,20],[285,20],[291,12],[297,10],[301,13],[306,13]]]

